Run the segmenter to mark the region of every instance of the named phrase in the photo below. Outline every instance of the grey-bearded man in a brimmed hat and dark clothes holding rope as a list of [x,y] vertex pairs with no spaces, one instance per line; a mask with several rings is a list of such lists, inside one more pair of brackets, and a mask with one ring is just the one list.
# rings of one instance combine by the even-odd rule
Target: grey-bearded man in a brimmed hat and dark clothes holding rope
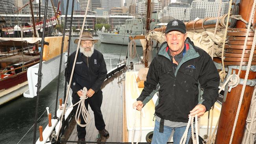
[[[79,39],[76,39],[74,42],[77,44]],[[71,82],[72,93],[72,103],[77,103],[80,100],[80,97],[83,95],[83,87],[87,88],[86,96],[88,97],[85,100],[85,107],[88,109],[88,104],[94,113],[95,118],[95,127],[98,129],[99,133],[107,137],[109,136],[108,131],[105,129],[105,123],[102,117],[100,110],[102,104],[102,91],[100,89],[104,79],[106,79],[107,68],[104,61],[103,55],[94,49],[94,44],[98,40],[93,39],[91,32],[83,32],[79,52],[76,59],[76,65],[74,69],[74,74]],[[72,67],[74,63],[76,52],[73,52],[69,56],[68,65],[67,65],[67,82],[69,82],[70,75],[72,72]],[[78,105],[74,107],[74,113]],[[85,124],[82,114],[79,118],[80,124]],[[76,126],[78,141],[85,141],[85,127]]]

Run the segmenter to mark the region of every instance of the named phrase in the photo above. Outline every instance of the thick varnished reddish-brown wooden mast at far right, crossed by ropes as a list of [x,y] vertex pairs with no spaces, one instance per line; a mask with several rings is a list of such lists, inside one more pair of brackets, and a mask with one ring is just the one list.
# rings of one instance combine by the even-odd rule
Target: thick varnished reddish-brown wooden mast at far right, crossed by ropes
[[[246,21],[249,21],[250,11],[252,9],[252,3],[253,3],[253,0],[240,1],[239,15],[241,15],[242,18],[244,18]],[[254,16],[254,22],[255,22],[255,16]],[[253,26],[255,26],[255,24],[253,24]],[[240,20],[238,20],[236,23],[236,28],[245,28],[245,24]],[[232,69],[232,71],[233,70],[236,71],[236,74],[238,73],[237,69]],[[246,70],[241,70],[241,74],[239,76],[240,79],[245,78],[245,72]],[[256,79],[256,72],[250,71],[248,80],[249,79]],[[243,85],[239,84],[237,87],[232,88],[231,92],[228,92],[226,95],[226,101],[222,103],[221,115],[219,119],[219,125],[217,129],[215,144],[229,144],[242,87]],[[243,133],[244,133],[245,124],[246,124],[246,118],[249,112],[253,90],[254,90],[254,87],[251,87],[249,85],[247,85],[245,88],[243,102],[239,112],[232,144],[241,144],[242,142]]]

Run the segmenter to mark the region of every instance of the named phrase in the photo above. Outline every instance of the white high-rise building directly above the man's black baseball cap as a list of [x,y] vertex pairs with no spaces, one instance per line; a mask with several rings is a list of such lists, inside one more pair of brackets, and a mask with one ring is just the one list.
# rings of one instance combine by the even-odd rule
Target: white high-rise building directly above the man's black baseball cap
[[171,3],[168,7],[163,7],[160,17],[173,17],[182,21],[190,19],[190,5],[185,3]]

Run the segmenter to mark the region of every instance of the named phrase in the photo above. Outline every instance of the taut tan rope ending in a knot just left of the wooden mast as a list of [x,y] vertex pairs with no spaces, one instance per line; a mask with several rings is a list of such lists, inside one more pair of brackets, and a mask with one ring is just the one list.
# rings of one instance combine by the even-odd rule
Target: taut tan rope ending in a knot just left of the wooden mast
[[224,47],[225,47],[226,35],[227,35],[227,31],[228,31],[228,22],[229,22],[231,7],[232,7],[232,0],[229,1],[228,16],[227,16],[227,20],[226,20],[226,28],[225,28],[225,33],[224,33],[224,37],[223,37],[223,45],[222,45],[222,52],[221,52],[222,70],[219,72],[219,76],[221,78],[221,81],[224,81],[224,79],[226,78],[226,72],[225,72],[224,58],[223,57],[224,57]]

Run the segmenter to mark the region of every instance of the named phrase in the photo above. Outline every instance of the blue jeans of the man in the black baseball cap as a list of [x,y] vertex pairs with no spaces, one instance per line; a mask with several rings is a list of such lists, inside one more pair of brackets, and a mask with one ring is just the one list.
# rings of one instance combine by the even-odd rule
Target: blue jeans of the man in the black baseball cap
[[[154,128],[154,134],[152,138],[151,144],[166,144],[169,140],[172,131],[174,130],[173,135],[173,144],[180,144],[180,140],[182,138],[182,135],[184,131],[186,130],[186,126],[184,127],[163,127],[163,133],[159,132],[160,122],[155,120],[155,128]],[[188,133],[187,133],[187,141],[186,144],[189,142],[189,138],[191,137],[191,126],[189,127]]]

